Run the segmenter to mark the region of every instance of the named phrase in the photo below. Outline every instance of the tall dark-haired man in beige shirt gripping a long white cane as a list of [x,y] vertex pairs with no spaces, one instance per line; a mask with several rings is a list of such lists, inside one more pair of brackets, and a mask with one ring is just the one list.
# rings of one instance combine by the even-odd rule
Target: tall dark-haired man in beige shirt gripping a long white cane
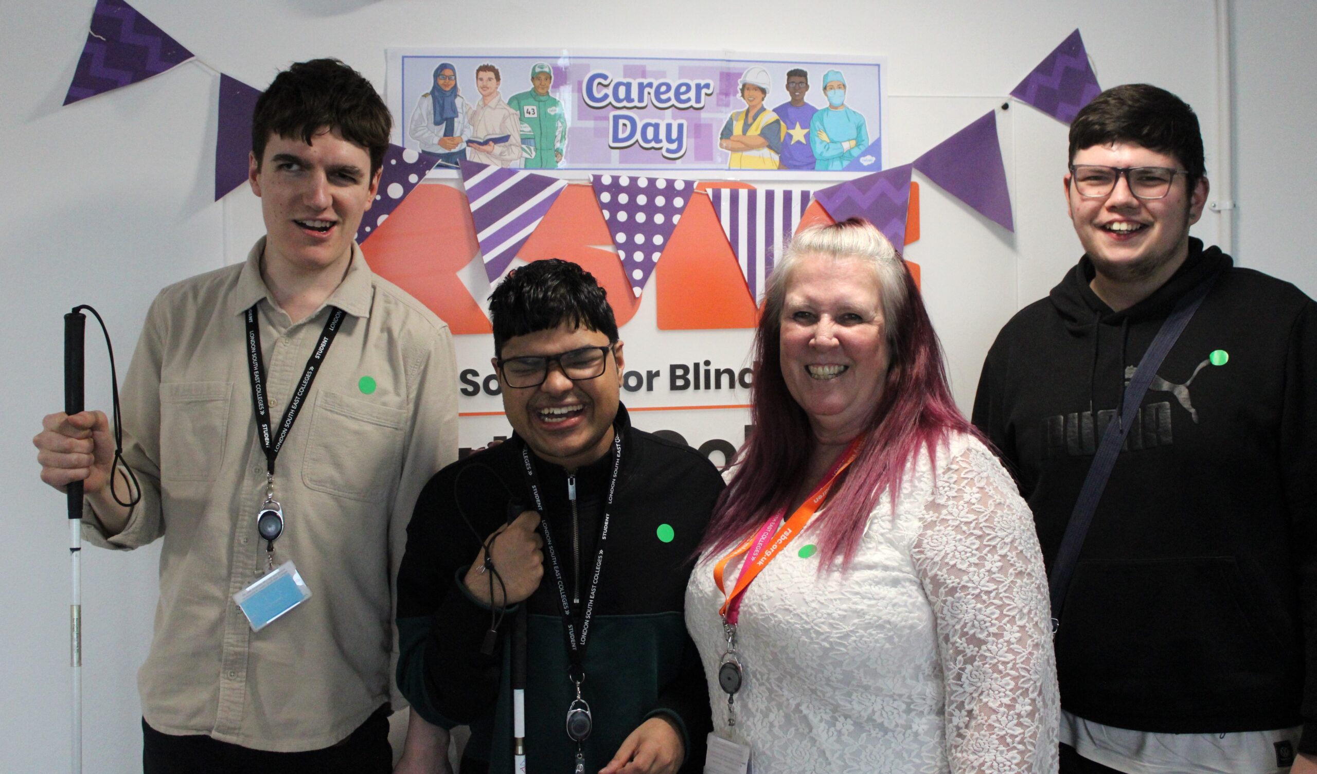
[[[34,438],[42,480],[83,482],[91,542],[163,537],[148,773],[391,767],[392,579],[417,492],[457,457],[457,399],[446,325],[353,241],[390,129],[346,64],[281,72],[253,117],[266,236],[148,312],[122,391],[137,486],[99,411]],[[287,562],[309,596],[249,620],[234,595]]]

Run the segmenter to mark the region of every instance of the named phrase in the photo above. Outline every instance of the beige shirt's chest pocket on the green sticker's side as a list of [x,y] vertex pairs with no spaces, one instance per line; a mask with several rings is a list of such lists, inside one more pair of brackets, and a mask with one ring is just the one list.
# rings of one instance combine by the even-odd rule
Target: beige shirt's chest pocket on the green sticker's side
[[400,474],[406,424],[403,409],[321,390],[311,415],[303,483],[363,503],[383,500]]

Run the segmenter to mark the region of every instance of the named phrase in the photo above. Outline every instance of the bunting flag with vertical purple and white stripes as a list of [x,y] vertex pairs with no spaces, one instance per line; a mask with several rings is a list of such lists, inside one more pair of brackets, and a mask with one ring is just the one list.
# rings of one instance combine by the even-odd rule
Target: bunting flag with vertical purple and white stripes
[[755,188],[710,188],[709,199],[718,222],[736,253],[751,297],[764,300],[768,275],[782,247],[792,241],[801,216],[810,205],[810,191]]

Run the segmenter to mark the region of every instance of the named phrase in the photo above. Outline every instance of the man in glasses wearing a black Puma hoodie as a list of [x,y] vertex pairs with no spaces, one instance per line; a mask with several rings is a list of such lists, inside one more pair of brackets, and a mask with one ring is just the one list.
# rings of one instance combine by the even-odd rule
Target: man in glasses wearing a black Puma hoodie
[[1189,105],[1146,84],[1071,125],[1085,254],[988,353],[973,420],[1054,570],[1126,383],[1214,284],[1134,415],[1056,633],[1062,771],[1317,771],[1317,307],[1189,238],[1208,197]]

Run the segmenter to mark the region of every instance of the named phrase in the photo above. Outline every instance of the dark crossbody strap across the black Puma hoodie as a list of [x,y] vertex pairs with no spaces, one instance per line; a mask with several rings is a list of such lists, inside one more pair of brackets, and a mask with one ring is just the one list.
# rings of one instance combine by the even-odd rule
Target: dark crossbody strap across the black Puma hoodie
[[1106,430],[1102,433],[1097,453],[1093,455],[1093,463],[1089,466],[1088,475],[1084,478],[1084,486],[1079,491],[1079,499],[1075,500],[1075,509],[1071,511],[1069,521],[1065,524],[1062,546],[1056,552],[1056,559],[1052,562],[1048,592],[1052,602],[1054,634],[1060,628],[1062,608],[1065,606],[1065,595],[1069,592],[1071,578],[1075,575],[1075,565],[1079,562],[1080,550],[1084,548],[1084,538],[1088,536],[1088,528],[1093,524],[1093,513],[1097,511],[1097,503],[1102,499],[1102,490],[1106,488],[1106,480],[1112,477],[1112,469],[1115,467],[1115,458],[1121,452],[1121,446],[1125,445],[1125,437],[1130,432],[1130,425],[1134,424],[1134,416],[1142,409],[1143,395],[1152,383],[1156,370],[1162,367],[1166,355],[1175,346],[1175,341],[1180,338],[1180,333],[1184,332],[1189,320],[1193,319],[1193,313],[1202,304],[1202,299],[1212,290],[1217,276],[1220,274],[1213,274],[1185,294],[1171,311],[1171,316],[1166,319],[1162,329],[1156,332],[1152,344],[1143,353],[1143,358],[1134,371],[1134,378],[1125,387],[1125,401],[1118,421],[1108,424]]

